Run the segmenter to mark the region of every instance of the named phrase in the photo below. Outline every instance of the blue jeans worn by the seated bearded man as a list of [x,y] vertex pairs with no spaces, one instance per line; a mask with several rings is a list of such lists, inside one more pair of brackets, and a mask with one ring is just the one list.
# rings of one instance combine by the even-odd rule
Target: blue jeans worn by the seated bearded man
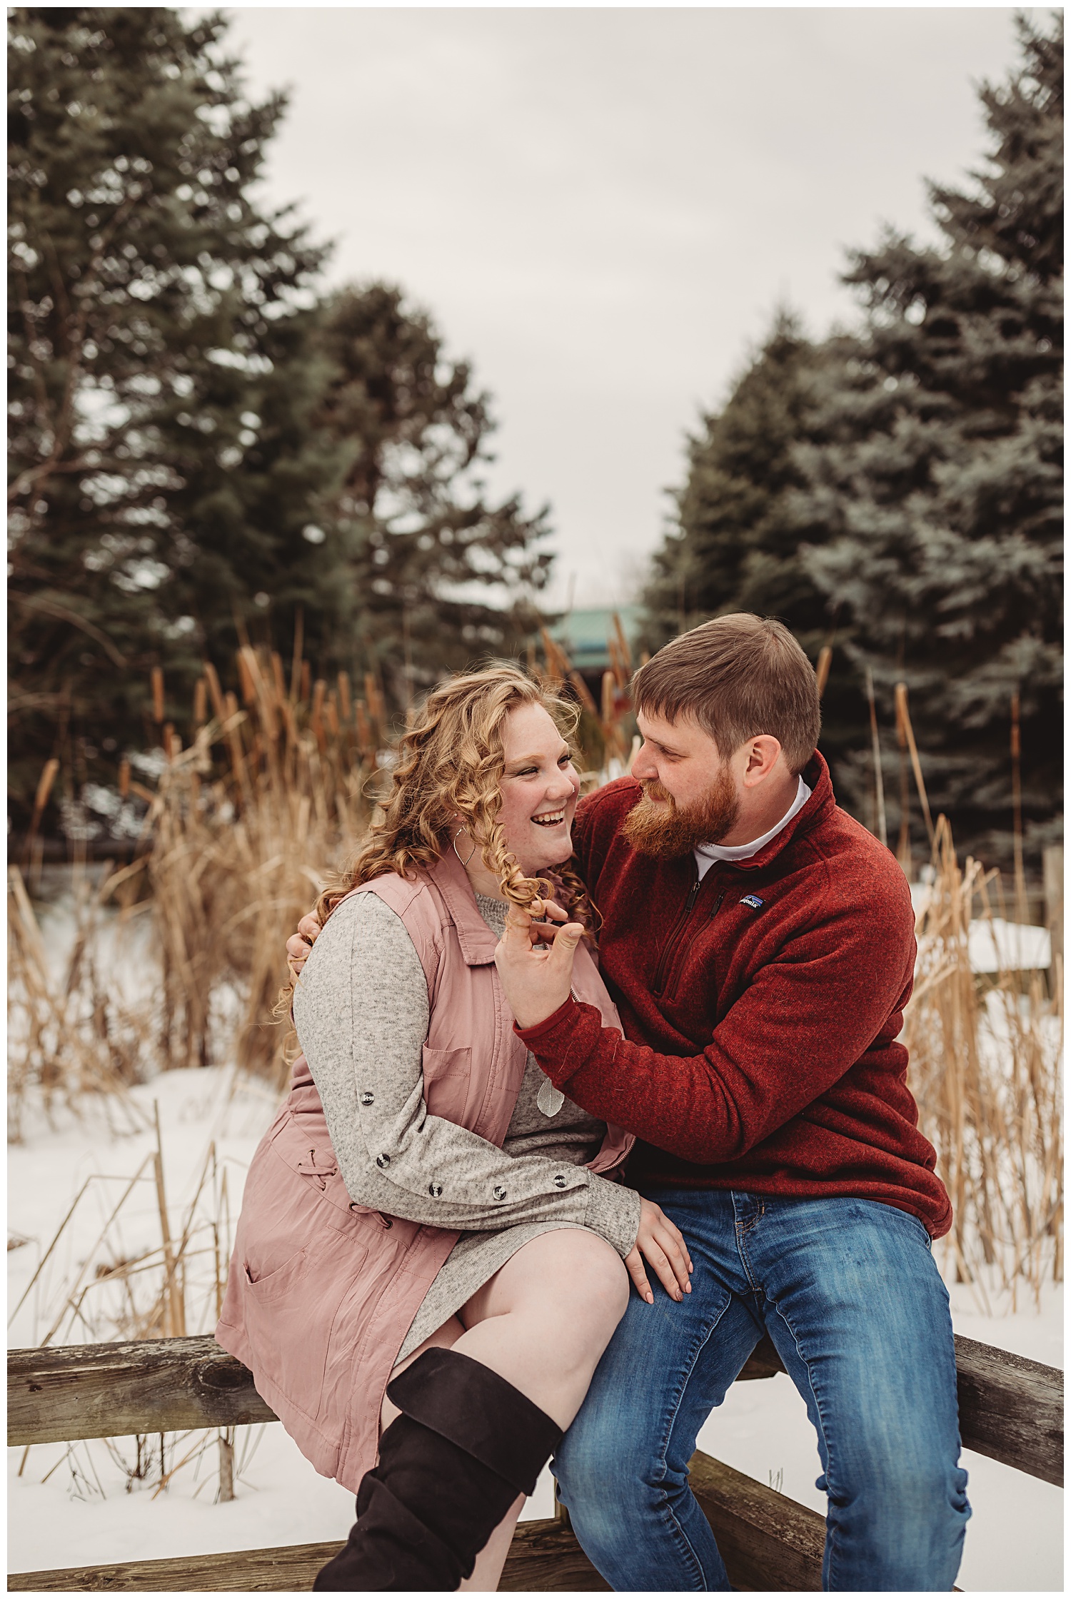
[[822,1586],[948,1591],[962,1553],[956,1354],[922,1223],[873,1199],[651,1190],[692,1292],[647,1268],[556,1455],[563,1503],[617,1591],[727,1589],[687,1484],[695,1434],[764,1332],[807,1402],[828,1493]]

